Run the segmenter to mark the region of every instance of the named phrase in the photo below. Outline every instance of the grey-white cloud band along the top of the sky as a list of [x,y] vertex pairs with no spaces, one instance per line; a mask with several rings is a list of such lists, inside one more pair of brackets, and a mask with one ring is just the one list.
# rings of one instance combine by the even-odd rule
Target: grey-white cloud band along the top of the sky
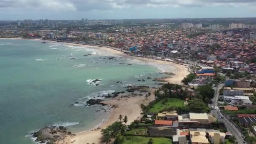
[[248,6],[256,0],[0,0],[0,9],[91,11],[139,7]]

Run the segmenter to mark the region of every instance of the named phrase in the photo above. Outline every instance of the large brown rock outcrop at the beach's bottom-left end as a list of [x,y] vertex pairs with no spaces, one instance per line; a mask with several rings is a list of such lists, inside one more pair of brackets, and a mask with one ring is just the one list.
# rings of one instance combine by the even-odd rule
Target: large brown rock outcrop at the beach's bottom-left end
[[33,137],[37,139],[35,141],[41,141],[41,143],[54,144],[56,141],[64,140],[66,136],[74,136],[67,128],[63,126],[45,126],[39,131],[33,133]]

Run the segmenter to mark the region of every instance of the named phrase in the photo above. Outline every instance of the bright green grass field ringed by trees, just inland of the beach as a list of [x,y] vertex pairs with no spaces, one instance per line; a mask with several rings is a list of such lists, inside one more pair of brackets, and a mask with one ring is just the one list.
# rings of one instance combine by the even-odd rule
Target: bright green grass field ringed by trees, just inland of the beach
[[149,109],[149,112],[159,112],[168,107],[184,107],[184,100],[176,98],[167,98],[168,101],[163,104],[165,99],[158,101],[152,108]]

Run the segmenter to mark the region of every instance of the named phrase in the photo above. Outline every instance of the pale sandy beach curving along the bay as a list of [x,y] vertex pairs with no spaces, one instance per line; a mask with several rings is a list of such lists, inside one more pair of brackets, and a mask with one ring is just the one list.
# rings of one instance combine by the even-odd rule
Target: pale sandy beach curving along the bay
[[[28,39],[28,38],[0,38],[0,39],[13,39],[13,40],[40,40],[40,39]],[[80,43],[67,43],[67,42],[58,42],[55,40],[41,40],[46,41],[48,43],[59,43],[65,44],[69,46],[77,46],[80,48],[90,48],[93,50],[97,50],[100,55],[117,55],[128,58],[131,61],[139,62],[141,64],[149,64],[154,67],[161,69],[164,72],[172,72],[174,75],[171,75],[170,78],[165,78],[165,80],[169,83],[181,84],[181,80],[186,77],[189,72],[188,68],[183,64],[177,64],[175,62],[170,61],[163,61],[163,60],[156,60],[156,59],[149,59],[139,56],[132,56],[125,54],[121,51],[118,51],[113,48],[97,46],[97,45],[86,45]],[[151,88],[152,96],[150,96],[150,100],[154,100],[154,88]],[[141,114],[140,105],[149,104],[149,99],[145,100],[144,96],[135,96],[129,98],[122,98],[121,96],[117,96],[115,99],[109,99],[107,101],[103,101],[104,104],[108,105],[116,105],[117,108],[112,108],[111,111],[107,112],[104,116],[104,119],[98,125],[94,126],[94,128],[81,131],[76,133],[76,136],[68,136],[64,139],[64,141],[58,141],[56,144],[86,144],[86,143],[95,143],[100,144],[100,129],[97,128],[106,128],[108,125],[112,124],[113,122],[117,121],[119,115],[127,115],[128,116],[128,124],[136,120]],[[132,107],[131,107],[132,106]]]

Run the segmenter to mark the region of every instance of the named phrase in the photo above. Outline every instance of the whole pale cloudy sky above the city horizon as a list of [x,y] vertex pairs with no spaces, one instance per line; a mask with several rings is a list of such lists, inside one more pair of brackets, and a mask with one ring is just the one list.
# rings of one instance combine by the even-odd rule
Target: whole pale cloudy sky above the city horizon
[[256,0],[0,0],[0,20],[256,17]]

